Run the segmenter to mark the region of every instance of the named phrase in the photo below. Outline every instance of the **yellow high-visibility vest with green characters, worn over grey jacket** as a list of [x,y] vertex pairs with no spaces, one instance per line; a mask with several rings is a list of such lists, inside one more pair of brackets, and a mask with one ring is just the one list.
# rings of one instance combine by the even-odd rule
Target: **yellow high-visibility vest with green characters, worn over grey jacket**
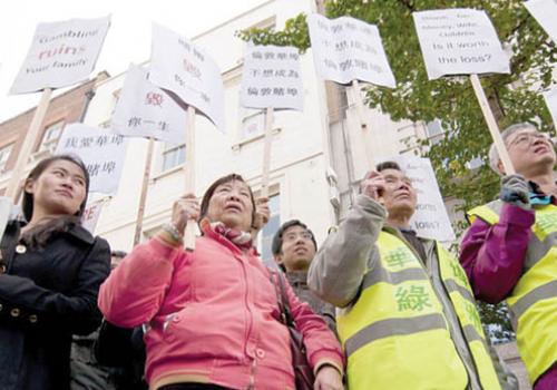
[[[466,389],[466,368],[420,261],[401,240],[385,232],[380,234],[378,247],[380,262],[367,271],[358,301],[338,316],[349,388]],[[450,274],[444,280],[449,298],[461,306],[455,308],[457,315],[469,315],[470,308],[476,308],[463,270],[441,250],[438,257],[441,274]],[[465,282],[458,280],[462,276]],[[481,325],[478,331],[471,321],[460,321],[482,387],[499,389]]]

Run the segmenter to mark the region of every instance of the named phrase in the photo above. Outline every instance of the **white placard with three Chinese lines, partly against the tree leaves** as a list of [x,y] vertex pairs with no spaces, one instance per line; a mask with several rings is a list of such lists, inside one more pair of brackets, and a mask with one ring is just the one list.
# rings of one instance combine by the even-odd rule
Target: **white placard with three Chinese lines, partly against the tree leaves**
[[317,75],[340,84],[360,80],[394,88],[377,26],[350,17],[331,20],[312,13],[307,27]]

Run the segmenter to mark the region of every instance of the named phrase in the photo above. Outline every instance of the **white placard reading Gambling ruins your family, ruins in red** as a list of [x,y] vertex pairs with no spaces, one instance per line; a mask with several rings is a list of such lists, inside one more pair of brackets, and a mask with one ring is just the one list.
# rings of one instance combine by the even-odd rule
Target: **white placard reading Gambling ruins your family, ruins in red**
[[10,94],[68,87],[87,80],[109,26],[110,17],[39,23]]

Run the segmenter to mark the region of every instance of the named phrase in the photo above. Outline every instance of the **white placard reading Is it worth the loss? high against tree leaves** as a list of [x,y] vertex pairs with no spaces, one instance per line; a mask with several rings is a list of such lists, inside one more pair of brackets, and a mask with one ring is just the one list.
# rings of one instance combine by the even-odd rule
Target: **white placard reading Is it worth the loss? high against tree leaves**
[[509,74],[509,58],[485,11],[412,13],[430,80],[446,75]]

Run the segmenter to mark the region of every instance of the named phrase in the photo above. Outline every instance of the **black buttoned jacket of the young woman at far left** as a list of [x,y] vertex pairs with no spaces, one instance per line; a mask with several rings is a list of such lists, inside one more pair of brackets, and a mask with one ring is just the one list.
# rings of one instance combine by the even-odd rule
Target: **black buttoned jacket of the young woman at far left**
[[18,247],[19,228],[10,222],[1,242],[0,389],[67,390],[71,334],[101,321],[97,294],[110,248],[75,226],[31,251]]

